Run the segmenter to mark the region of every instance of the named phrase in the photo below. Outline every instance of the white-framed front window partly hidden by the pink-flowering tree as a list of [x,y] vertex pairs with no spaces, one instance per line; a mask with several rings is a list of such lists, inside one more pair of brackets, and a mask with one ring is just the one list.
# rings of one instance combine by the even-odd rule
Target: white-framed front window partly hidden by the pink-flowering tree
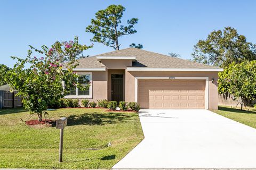
[[77,87],[71,88],[69,94],[65,98],[92,98],[92,73],[79,73],[81,74],[77,81],[82,84],[82,86],[90,87],[86,90],[80,90]]

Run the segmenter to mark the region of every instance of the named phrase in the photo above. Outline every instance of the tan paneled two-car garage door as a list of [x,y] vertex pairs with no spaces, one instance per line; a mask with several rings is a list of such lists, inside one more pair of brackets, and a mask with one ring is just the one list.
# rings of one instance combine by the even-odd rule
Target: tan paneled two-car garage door
[[205,80],[138,80],[138,103],[151,109],[204,109]]

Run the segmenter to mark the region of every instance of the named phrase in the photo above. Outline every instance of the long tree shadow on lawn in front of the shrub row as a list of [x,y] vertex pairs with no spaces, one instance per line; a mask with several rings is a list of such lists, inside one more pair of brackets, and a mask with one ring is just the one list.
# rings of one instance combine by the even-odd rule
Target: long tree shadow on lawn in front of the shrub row
[[84,113],[81,115],[70,115],[68,118],[68,126],[73,125],[105,125],[115,124],[133,120],[135,114],[125,115],[122,113]]

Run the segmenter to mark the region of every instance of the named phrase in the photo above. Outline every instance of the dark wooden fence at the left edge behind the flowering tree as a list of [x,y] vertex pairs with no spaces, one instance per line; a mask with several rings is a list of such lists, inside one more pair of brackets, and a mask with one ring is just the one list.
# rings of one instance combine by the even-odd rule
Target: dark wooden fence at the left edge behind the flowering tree
[[22,107],[21,98],[16,94],[17,91],[0,91],[0,109]]

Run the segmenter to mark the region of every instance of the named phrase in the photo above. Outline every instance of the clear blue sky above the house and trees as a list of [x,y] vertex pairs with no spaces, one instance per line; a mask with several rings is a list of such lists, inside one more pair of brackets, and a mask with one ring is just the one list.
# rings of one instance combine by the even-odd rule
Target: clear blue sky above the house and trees
[[[134,35],[122,37],[122,48],[131,43],[157,53],[179,53],[191,58],[193,46],[213,30],[234,27],[248,41],[256,43],[256,1],[11,1],[0,2],[0,64],[13,66],[10,56],[25,57],[28,45],[50,46],[56,40],[79,37],[90,45],[85,28],[98,10],[110,4],[126,8],[123,22],[138,18]],[[94,43],[85,55],[97,55],[113,48]]]

